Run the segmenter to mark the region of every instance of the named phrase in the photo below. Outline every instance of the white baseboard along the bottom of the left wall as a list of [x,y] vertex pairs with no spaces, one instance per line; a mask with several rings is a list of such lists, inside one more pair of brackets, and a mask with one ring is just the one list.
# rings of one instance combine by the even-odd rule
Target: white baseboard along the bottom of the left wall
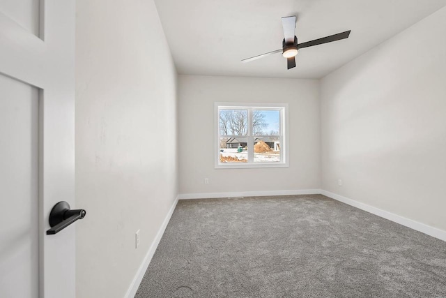
[[134,276],[133,281],[127,290],[127,293],[125,294],[125,298],[133,298],[134,295],[137,293],[139,284],[141,283],[142,278],[144,277],[144,274],[146,274],[147,267],[151,263],[151,260],[153,258],[153,255],[155,254],[158,244],[160,244],[162,234],[164,234],[164,230],[166,230],[167,224],[169,223],[170,218],[171,218],[172,214],[174,213],[176,204],[178,203],[178,197],[179,197],[179,195],[177,195],[177,197],[174,201],[174,204],[172,204],[172,207],[169,209],[169,212],[167,213],[166,217],[164,218],[164,221],[162,222],[160,230],[158,230],[156,237],[152,242],[151,247],[148,248],[146,257],[144,258],[143,262],[139,266],[137,274]]

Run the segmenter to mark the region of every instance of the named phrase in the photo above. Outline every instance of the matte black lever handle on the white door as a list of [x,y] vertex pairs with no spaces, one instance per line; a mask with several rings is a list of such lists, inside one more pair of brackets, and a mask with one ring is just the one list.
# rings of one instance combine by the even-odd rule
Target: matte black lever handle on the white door
[[47,235],[52,235],[60,232],[68,227],[78,219],[84,218],[86,211],[84,209],[70,209],[70,204],[61,201],[54,205],[49,213],[49,225],[51,229],[47,230]]

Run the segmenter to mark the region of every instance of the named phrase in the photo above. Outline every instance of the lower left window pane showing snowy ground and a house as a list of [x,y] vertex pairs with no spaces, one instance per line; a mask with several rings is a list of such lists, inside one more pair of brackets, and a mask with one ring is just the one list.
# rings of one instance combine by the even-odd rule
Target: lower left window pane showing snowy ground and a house
[[247,137],[220,137],[220,163],[247,161]]

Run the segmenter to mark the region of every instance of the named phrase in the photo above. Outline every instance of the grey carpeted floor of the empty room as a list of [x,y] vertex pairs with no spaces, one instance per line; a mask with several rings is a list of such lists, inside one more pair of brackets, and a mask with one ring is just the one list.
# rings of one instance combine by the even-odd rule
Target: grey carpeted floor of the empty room
[[180,200],[135,297],[446,297],[446,242],[323,195]]

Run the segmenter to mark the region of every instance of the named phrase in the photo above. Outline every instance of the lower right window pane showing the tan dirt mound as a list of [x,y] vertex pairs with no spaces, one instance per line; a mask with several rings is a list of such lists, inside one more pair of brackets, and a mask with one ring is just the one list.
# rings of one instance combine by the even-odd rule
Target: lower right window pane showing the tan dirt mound
[[280,138],[254,137],[254,163],[279,163]]

